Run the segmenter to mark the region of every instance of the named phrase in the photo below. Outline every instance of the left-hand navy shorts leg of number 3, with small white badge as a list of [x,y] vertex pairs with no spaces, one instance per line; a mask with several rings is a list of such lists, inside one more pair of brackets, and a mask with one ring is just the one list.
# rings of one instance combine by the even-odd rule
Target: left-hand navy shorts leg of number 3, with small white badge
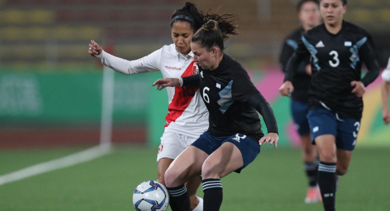
[[326,109],[309,110],[307,114],[311,130],[311,141],[313,144],[316,138],[321,135],[337,135],[337,119],[333,112]]

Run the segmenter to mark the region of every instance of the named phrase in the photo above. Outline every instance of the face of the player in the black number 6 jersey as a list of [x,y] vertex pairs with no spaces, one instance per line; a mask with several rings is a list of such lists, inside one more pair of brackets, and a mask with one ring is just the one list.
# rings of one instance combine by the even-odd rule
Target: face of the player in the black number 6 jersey
[[198,63],[203,69],[215,69],[217,48],[212,48],[208,51],[202,48],[198,43],[191,43],[191,50],[193,53],[193,60]]

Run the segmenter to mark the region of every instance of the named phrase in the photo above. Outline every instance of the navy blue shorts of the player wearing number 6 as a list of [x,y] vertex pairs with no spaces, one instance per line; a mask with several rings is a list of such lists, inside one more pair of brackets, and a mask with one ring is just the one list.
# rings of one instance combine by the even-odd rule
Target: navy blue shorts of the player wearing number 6
[[240,173],[249,163],[255,160],[256,156],[260,153],[260,145],[258,140],[253,139],[250,136],[243,134],[235,134],[228,137],[217,137],[209,132],[204,132],[199,138],[191,144],[208,155],[211,155],[216,149],[218,149],[223,143],[230,142],[239,148],[241,155],[243,156],[244,165],[235,170]]

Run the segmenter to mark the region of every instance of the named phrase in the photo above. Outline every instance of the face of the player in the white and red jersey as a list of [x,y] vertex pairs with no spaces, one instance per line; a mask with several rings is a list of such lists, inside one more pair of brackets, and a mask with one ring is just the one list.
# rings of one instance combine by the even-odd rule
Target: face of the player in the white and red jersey
[[191,51],[191,39],[193,37],[193,30],[191,24],[187,21],[177,21],[172,24],[171,36],[176,49],[187,55]]

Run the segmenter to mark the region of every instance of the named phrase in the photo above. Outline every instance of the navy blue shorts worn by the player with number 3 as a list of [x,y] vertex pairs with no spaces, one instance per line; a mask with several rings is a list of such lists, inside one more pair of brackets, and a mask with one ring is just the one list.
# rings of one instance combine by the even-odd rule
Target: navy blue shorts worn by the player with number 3
[[336,147],[353,151],[360,129],[360,119],[347,118],[326,109],[310,110],[307,114],[311,130],[311,142],[316,137],[332,134],[336,137]]

